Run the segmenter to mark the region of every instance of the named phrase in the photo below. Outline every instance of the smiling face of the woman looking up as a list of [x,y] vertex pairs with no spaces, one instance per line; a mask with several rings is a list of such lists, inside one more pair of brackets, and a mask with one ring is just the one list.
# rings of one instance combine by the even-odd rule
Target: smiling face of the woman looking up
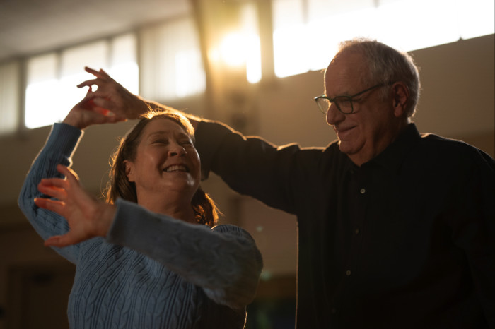
[[179,193],[189,201],[199,187],[201,164],[192,139],[170,119],[152,119],[143,129],[134,161],[125,160],[129,181],[141,198]]

